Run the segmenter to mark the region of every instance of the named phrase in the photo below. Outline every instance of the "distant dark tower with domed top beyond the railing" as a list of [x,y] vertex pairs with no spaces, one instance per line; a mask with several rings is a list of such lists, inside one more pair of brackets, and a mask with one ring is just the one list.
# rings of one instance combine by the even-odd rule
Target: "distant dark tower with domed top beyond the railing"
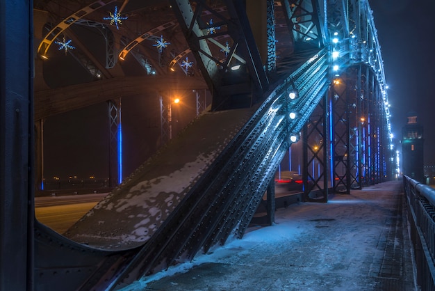
[[419,182],[424,181],[423,127],[417,123],[417,114],[408,114],[408,123],[402,128],[403,174]]

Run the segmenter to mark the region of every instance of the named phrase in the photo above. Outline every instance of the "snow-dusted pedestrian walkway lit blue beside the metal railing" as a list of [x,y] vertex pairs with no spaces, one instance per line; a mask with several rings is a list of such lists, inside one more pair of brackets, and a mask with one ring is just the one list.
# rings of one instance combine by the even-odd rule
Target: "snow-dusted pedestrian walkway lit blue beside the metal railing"
[[123,290],[418,290],[400,181],[290,205],[275,221]]

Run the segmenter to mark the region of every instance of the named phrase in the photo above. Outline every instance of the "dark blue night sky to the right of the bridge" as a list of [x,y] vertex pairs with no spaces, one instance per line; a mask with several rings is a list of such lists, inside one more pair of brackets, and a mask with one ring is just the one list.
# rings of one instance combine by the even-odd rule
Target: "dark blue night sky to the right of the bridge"
[[424,127],[425,166],[435,165],[435,1],[370,0],[384,59],[395,146],[407,115]]

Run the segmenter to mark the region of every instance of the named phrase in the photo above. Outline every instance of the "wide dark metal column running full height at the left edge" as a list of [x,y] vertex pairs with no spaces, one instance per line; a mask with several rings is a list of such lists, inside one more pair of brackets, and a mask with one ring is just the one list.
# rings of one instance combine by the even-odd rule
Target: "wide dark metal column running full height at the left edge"
[[0,3],[0,290],[33,290],[32,10]]

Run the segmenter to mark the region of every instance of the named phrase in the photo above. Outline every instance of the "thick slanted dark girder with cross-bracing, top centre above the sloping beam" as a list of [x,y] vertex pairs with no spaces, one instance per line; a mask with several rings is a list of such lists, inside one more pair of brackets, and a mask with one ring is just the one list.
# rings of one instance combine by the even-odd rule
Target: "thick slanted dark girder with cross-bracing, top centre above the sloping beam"
[[[213,92],[212,110],[224,109],[224,103],[232,95],[251,96],[248,104],[250,106],[268,88],[268,77],[256,48],[245,8],[238,2],[225,1],[227,9],[223,10],[231,18],[227,19],[228,17],[220,14],[222,9],[212,9],[202,0],[192,2],[196,4],[195,11],[188,0],[170,0],[190,50],[197,59],[208,88]],[[207,10],[220,22],[214,26],[205,24],[201,19],[202,10]],[[210,29],[217,28],[218,25],[226,26],[227,31],[210,33]],[[233,41],[231,49],[227,49],[226,59],[221,59],[211,49],[211,45],[224,49],[218,42],[221,38]],[[242,67],[245,66],[248,74],[238,78],[231,77],[232,60],[238,61]]]

